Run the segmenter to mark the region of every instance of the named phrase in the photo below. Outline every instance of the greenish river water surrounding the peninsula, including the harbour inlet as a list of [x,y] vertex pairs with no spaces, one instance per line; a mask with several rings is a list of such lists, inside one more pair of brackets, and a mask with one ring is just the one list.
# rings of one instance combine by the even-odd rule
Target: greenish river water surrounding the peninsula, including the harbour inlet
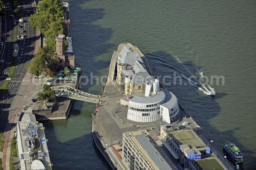
[[[220,148],[226,140],[235,143],[244,167],[254,169],[255,1],[67,2],[73,52],[83,75],[89,80],[105,75],[119,43],[136,45],[155,75],[172,77],[165,79],[171,83],[166,87],[214,143]],[[192,75],[223,76],[225,84],[221,78],[219,85],[192,78],[197,85],[190,85]],[[94,79],[81,90],[99,94],[101,85],[95,84]],[[74,101],[68,119],[43,122],[54,169],[110,169],[92,139],[94,109],[95,104]]]

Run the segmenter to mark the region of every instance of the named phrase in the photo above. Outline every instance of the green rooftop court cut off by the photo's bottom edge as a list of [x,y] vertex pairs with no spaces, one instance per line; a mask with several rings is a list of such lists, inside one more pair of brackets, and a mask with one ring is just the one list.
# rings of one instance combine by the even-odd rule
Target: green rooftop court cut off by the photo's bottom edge
[[[215,159],[202,159],[196,161],[197,165],[201,167],[202,170],[224,170],[224,168],[219,164],[219,162]],[[196,167],[198,167],[196,166]]]

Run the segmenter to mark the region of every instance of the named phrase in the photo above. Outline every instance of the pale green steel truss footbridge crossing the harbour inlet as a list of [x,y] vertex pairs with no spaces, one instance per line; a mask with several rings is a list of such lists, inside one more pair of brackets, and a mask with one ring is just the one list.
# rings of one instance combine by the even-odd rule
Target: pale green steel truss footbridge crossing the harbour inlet
[[88,101],[91,103],[99,103],[100,96],[82,92],[70,86],[51,87],[55,91],[56,96],[70,99]]

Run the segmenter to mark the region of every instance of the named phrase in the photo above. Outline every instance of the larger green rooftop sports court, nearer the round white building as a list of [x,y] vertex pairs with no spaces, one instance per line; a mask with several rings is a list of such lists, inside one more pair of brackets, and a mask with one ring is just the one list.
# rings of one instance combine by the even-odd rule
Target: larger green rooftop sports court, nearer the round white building
[[196,136],[190,130],[173,133],[172,135],[180,144],[195,145],[196,148],[205,146],[199,139],[196,139]]

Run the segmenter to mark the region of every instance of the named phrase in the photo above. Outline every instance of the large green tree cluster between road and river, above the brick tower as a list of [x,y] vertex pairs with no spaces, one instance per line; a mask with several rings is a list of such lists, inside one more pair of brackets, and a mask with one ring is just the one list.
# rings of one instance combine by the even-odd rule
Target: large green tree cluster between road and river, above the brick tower
[[[28,19],[34,29],[40,29],[45,34],[46,45],[49,50],[56,50],[55,35],[59,32],[67,36],[67,27],[63,19],[64,12],[67,10],[62,5],[61,0],[42,0],[38,3],[39,12],[31,15]],[[65,50],[68,48],[68,42],[65,40]]]

